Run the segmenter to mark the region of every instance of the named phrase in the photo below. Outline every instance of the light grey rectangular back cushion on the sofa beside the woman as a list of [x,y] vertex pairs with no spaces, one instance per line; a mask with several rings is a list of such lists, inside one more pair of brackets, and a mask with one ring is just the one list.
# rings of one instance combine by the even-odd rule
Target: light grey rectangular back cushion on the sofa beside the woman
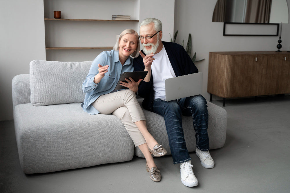
[[93,61],[30,62],[30,101],[34,106],[84,102],[82,83]]

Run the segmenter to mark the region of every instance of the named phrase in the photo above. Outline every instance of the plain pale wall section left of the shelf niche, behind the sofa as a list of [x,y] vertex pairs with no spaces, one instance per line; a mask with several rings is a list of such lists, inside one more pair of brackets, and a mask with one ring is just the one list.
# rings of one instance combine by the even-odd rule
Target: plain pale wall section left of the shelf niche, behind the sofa
[[1,1],[0,120],[13,119],[12,78],[29,73],[31,60],[46,58],[43,18],[43,1]]

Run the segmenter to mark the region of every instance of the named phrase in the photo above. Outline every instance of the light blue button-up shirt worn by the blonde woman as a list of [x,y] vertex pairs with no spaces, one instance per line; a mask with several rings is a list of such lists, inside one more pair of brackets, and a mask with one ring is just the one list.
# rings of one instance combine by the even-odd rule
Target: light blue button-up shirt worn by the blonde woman
[[[98,64],[101,66],[108,65],[108,72],[102,80],[96,84],[94,82],[95,76],[99,73]],[[119,84],[119,78],[123,72],[132,72],[133,58],[128,57],[125,64],[122,66],[119,60],[119,52],[115,50],[104,51],[93,61],[88,76],[84,80],[82,88],[85,95],[85,100],[81,104],[83,110],[91,115],[100,113],[93,105],[91,105],[99,96],[111,93],[114,91],[117,84]]]

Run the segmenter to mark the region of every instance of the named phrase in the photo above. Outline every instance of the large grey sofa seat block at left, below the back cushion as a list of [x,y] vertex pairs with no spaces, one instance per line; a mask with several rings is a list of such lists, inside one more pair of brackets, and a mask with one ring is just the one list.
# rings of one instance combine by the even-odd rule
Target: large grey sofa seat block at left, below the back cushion
[[114,115],[89,115],[80,103],[14,109],[19,159],[27,174],[129,161],[134,144]]

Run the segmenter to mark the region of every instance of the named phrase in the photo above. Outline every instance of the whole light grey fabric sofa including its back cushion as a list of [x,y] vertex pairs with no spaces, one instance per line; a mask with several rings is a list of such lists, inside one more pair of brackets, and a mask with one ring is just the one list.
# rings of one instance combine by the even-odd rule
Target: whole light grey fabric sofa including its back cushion
[[[14,127],[19,161],[27,174],[54,172],[129,161],[135,148],[121,121],[114,115],[89,115],[80,104],[81,84],[92,61],[33,60],[30,74],[12,80]],[[138,99],[140,104],[142,99]],[[211,102],[210,148],[221,148],[226,138],[226,111]],[[149,132],[171,154],[164,119],[144,110]],[[187,148],[195,151],[191,117],[182,117]]]

